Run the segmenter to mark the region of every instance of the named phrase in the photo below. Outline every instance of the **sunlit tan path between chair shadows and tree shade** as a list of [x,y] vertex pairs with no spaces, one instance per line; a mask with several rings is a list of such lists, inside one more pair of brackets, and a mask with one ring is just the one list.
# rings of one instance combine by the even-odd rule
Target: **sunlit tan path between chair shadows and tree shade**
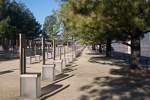
[[81,56],[65,69],[64,75],[70,77],[57,83],[58,87],[61,85],[63,87],[41,98],[41,100],[101,100],[99,90],[105,89],[105,87],[100,86],[99,79],[105,80],[108,76],[120,77],[119,75],[111,75],[110,70],[119,69],[120,66],[115,65],[119,62],[124,66],[127,65],[123,61],[115,61],[85,49]]

